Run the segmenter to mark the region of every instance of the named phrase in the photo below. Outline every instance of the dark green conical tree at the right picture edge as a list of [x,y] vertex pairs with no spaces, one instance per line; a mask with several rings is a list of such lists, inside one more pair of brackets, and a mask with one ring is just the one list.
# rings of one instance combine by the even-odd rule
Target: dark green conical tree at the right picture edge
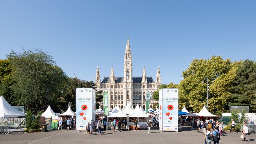
[[238,68],[233,82],[230,105],[250,105],[256,112],[256,63],[245,60]]

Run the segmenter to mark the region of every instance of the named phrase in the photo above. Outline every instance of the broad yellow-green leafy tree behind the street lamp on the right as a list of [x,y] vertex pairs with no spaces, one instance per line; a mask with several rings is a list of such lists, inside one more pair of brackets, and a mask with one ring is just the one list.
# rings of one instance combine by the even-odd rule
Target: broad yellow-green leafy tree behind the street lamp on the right
[[220,114],[227,107],[230,98],[230,86],[239,62],[231,63],[221,56],[210,59],[194,59],[188,69],[182,73],[184,79],[179,84],[179,109],[186,106],[189,110],[199,112],[207,106],[207,84],[209,81],[209,111]]

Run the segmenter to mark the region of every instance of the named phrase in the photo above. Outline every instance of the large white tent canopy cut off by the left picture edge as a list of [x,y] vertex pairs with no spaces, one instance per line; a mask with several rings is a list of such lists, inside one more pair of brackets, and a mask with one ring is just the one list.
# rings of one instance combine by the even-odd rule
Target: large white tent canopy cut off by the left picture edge
[[22,117],[25,116],[23,112],[20,112],[13,108],[3,96],[0,97],[0,117]]

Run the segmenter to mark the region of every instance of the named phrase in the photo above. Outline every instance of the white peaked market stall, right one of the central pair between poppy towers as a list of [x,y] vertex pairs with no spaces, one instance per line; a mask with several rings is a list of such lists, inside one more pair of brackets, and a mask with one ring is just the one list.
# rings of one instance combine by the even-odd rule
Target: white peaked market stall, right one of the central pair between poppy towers
[[127,120],[127,125],[129,129],[134,129],[134,122],[137,120],[139,129],[147,129],[148,115],[144,114],[139,108],[139,105],[135,107],[133,112],[128,115],[129,119]]

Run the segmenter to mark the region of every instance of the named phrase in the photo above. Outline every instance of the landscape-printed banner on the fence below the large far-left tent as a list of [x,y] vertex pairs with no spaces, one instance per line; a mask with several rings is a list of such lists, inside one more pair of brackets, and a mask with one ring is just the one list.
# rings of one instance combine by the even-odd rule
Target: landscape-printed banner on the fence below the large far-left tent
[[0,118],[0,125],[9,126],[10,131],[23,131],[26,128],[26,119],[25,118],[6,118],[6,119]]

